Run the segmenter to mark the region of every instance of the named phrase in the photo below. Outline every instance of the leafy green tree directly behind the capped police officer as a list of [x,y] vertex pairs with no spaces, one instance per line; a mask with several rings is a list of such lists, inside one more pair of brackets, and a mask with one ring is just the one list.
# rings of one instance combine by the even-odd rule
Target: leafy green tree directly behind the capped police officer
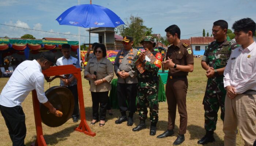
[[151,36],[152,28],[144,26],[142,18],[131,15],[129,21],[126,22],[127,26],[118,26],[116,33],[119,32],[122,36],[128,35],[133,37],[133,46],[138,46],[144,36]]

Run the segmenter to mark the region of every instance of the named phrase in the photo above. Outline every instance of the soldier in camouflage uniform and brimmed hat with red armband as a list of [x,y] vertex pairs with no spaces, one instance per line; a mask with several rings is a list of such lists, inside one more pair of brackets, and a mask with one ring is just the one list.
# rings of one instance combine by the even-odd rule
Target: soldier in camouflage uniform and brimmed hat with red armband
[[[155,56],[158,51],[154,51],[155,47],[154,38],[151,36],[146,36],[140,42],[144,49],[148,49]],[[157,76],[159,68],[145,60],[145,53],[140,53],[135,62],[140,59],[145,64],[145,72],[142,74],[138,72],[138,69],[133,63],[132,69],[136,70],[138,73],[138,96],[137,96],[137,110],[139,112],[140,124],[132,129],[132,131],[139,131],[146,128],[145,120],[147,119],[147,107],[150,109],[150,135],[155,135],[157,131],[157,122],[158,122],[158,81]]]

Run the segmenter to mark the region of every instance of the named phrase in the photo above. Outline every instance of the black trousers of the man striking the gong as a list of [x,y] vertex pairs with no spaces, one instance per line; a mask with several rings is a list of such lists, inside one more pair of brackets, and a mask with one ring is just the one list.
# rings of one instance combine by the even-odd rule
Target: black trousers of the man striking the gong
[[25,124],[25,114],[22,107],[19,105],[15,107],[5,107],[0,105],[0,111],[9,130],[12,145],[25,146],[24,139],[26,137],[27,129]]

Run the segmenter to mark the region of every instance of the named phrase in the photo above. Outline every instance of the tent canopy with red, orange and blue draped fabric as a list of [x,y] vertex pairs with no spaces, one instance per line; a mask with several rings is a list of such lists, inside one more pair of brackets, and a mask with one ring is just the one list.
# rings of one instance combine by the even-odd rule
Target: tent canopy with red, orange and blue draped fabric
[[[68,43],[71,45],[72,51],[79,51],[78,41],[47,41],[41,39],[0,39],[0,63],[3,63],[3,58],[14,53],[25,55],[29,58],[29,54],[37,54],[40,51],[60,50],[61,45]],[[79,52],[78,52],[79,54]]]

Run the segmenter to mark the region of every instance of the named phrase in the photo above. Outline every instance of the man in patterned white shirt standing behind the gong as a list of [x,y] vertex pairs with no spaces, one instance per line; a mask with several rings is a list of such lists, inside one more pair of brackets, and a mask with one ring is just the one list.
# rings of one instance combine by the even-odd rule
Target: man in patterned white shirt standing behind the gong
[[[72,57],[71,54],[71,47],[69,44],[63,44],[61,46],[61,52],[63,54],[63,57],[60,57],[57,59],[56,64],[59,65],[74,65],[76,68],[81,68],[80,63],[77,58]],[[82,70],[82,69],[81,69]],[[67,79],[60,78],[60,86],[68,88],[73,96],[74,96],[74,111],[72,114],[73,122],[78,122],[79,117],[79,105],[78,105],[78,90],[77,90],[77,80],[72,75],[69,74],[69,77]]]

